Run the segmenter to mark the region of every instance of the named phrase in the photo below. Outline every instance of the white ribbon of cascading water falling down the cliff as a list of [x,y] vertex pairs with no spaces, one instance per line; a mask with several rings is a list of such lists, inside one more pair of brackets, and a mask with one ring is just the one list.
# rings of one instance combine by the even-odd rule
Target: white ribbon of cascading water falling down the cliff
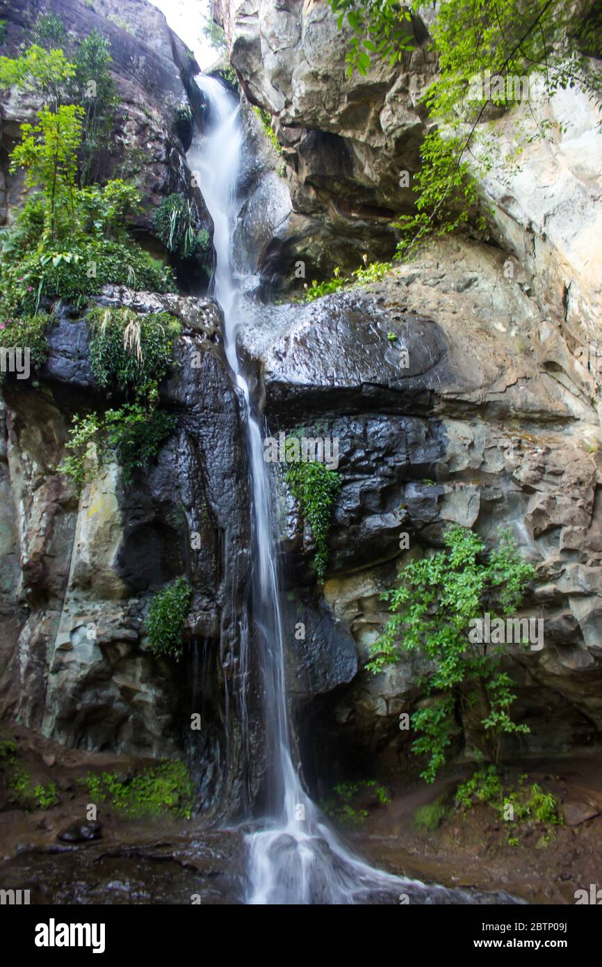
[[[239,204],[236,186],[244,150],[240,105],[213,77],[197,79],[211,111],[209,130],[188,153],[214,220],[214,295],[224,315],[224,345],[244,397],[254,515],[253,616],[259,639],[270,804],[246,836],[248,903],[365,903],[410,894],[418,903],[467,902],[466,894],[427,888],[391,876],[351,855],[305,794],[293,765],[286,701],[283,631],[275,565],[272,493],[260,419],[237,354],[243,294],[232,247]],[[244,642],[243,650],[247,643]],[[248,655],[241,656],[243,669]],[[246,675],[242,675],[243,681]],[[244,704],[244,700],[243,700]],[[470,900],[469,900],[470,902]]]

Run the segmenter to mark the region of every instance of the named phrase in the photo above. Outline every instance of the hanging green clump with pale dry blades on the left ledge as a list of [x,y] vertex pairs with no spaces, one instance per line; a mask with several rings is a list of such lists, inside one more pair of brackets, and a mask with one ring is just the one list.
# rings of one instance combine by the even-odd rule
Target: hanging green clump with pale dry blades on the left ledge
[[90,362],[95,379],[109,394],[128,394],[159,383],[172,362],[173,340],[182,325],[168,312],[139,315],[128,308],[92,308],[87,315]]

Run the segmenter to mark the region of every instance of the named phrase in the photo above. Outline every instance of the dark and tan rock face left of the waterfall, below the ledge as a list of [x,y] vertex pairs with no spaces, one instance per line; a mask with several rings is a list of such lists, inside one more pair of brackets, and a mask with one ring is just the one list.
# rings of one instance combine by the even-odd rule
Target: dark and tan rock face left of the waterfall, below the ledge
[[[12,636],[3,705],[70,747],[173,755],[186,738],[186,715],[189,732],[195,696],[186,676],[201,641],[212,674],[229,678],[231,690],[239,684],[250,543],[239,401],[214,304],[116,287],[107,287],[100,303],[167,309],[182,320],[173,375],[162,388],[178,425],[133,484],[108,464],[78,498],[59,471],[72,415],[119,403],[94,384],[85,319],[59,321],[35,384],[7,382],[1,568],[2,613]],[[151,655],[143,622],[151,595],[183,573],[193,603],[189,656],[180,668]],[[243,773],[236,717],[227,734],[215,724],[223,700],[217,687],[205,696],[204,753],[210,761],[227,754],[239,775],[213,775],[208,805],[220,795],[236,800]]]

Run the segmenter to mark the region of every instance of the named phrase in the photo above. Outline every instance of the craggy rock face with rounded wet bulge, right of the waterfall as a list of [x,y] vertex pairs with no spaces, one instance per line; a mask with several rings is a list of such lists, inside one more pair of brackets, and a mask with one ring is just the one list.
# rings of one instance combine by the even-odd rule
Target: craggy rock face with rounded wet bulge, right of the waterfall
[[[486,246],[435,243],[365,290],[264,307],[241,339],[261,368],[272,434],[336,441],[342,486],[322,607],[351,635],[360,668],[387,622],[380,594],[409,556],[441,546],[451,524],[490,546],[509,529],[536,568],[520,616],[544,621],[543,648],[508,659],[517,715],[531,729],[522,748],[551,752],[594,743],[602,725],[600,424],[588,372],[552,338],[536,300],[504,278],[503,259]],[[558,365],[542,366],[553,353]],[[302,599],[314,544],[284,484],[280,493],[283,556]],[[307,665],[287,621],[291,652]],[[319,721],[313,746],[318,728],[328,749],[315,775],[361,761],[372,774],[375,755],[406,764],[398,719],[416,707],[425,671],[405,656],[378,676],[360,670],[333,703],[305,695],[301,741],[303,720]]]

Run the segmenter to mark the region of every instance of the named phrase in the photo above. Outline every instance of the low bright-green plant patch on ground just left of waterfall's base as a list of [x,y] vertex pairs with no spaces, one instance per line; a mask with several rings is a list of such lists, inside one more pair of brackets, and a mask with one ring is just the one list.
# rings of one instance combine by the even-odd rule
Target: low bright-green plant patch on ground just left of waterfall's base
[[90,773],[84,781],[94,802],[108,799],[113,809],[131,818],[171,813],[189,819],[194,806],[194,786],[180,760],[159,762],[126,781],[114,773]]

